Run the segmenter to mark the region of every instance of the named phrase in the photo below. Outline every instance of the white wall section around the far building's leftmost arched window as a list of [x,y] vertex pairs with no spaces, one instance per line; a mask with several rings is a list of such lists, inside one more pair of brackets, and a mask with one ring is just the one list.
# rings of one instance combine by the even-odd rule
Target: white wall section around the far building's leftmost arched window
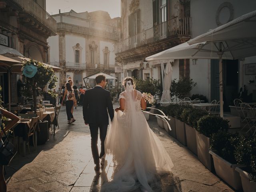
[[72,34],[66,35],[65,36],[65,41],[66,41],[66,62],[72,62],[74,63],[74,50],[73,46],[76,46],[77,43],[80,44],[80,47],[82,47],[82,60],[81,63],[85,63],[85,53],[86,53],[86,47],[85,47],[85,38],[82,38],[80,36],[74,36]]

